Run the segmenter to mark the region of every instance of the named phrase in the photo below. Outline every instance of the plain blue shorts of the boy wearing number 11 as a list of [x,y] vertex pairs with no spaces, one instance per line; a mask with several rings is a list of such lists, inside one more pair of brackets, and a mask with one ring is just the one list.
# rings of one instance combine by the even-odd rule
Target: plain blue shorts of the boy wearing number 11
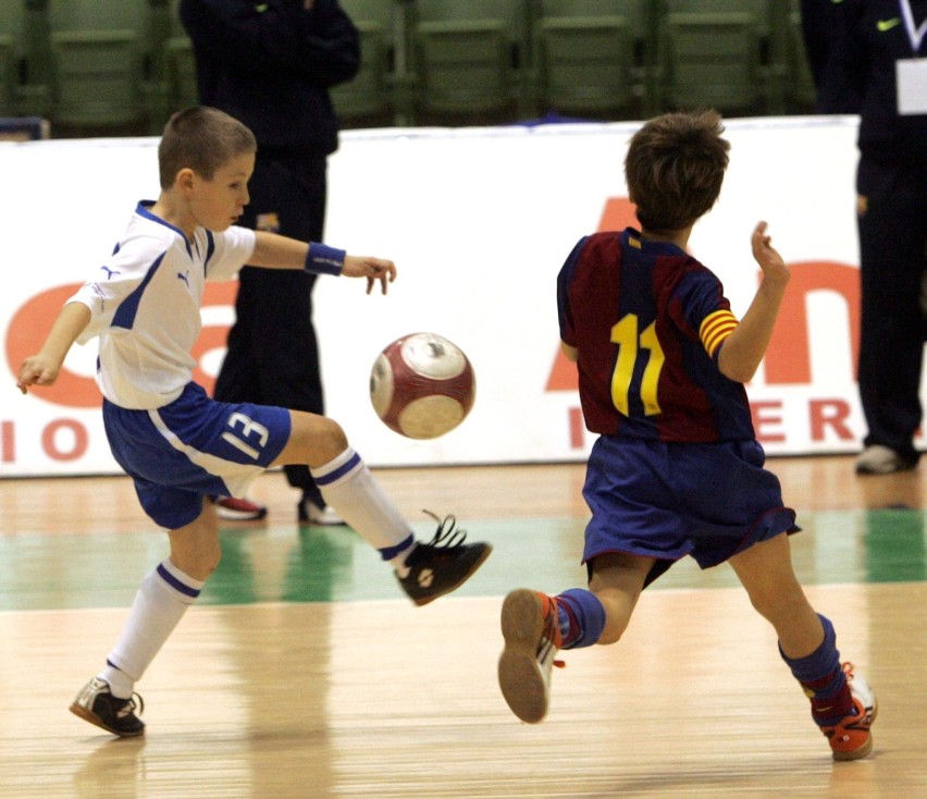
[[657,558],[645,585],[692,555],[716,566],[758,541],[796,532],[756,441],[681,444],[601,437],[583,496],[592,511],[583,563],[623,552]]

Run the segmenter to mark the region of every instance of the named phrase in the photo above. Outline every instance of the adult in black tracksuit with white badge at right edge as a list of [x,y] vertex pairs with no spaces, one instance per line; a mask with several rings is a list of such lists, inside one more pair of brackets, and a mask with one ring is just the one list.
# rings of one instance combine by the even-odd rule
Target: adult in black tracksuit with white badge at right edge
[[[900,113],[897,64],[927,57],[927,0],[843,0],[819,87],[827,113],[860,113],[861,474],[914,468],[927,337],[927,109]],[[922,86],[927,106],[927,89]]]

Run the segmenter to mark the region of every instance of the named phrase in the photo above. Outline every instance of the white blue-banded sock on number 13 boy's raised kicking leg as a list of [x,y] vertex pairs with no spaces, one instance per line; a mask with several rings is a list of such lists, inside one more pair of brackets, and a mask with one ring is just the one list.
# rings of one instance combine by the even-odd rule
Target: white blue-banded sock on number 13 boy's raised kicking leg
[[405,577],[409,571],[406,555],[416,545],[415,534],[354,448],[349,446],[310,472],[325,502]]

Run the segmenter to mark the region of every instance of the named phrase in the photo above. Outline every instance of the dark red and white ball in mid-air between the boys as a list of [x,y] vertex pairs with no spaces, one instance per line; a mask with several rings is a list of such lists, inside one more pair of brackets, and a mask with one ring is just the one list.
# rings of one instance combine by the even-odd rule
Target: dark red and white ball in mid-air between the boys
[[370,371],[370,401],[383,422],[408,439],[436,439],[473,407],[470,360],[436,333],[412,333],[390,344]]

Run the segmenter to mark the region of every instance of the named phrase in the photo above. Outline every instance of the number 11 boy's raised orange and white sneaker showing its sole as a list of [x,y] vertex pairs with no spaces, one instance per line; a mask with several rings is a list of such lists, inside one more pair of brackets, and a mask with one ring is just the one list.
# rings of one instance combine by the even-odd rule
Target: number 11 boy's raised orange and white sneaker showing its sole
[[560,648],[557,603],[547,594],[519,588],[503,602],[505,649],[499,657],[499,688],[522,722],[536,724],[547,714],[551,671]]

